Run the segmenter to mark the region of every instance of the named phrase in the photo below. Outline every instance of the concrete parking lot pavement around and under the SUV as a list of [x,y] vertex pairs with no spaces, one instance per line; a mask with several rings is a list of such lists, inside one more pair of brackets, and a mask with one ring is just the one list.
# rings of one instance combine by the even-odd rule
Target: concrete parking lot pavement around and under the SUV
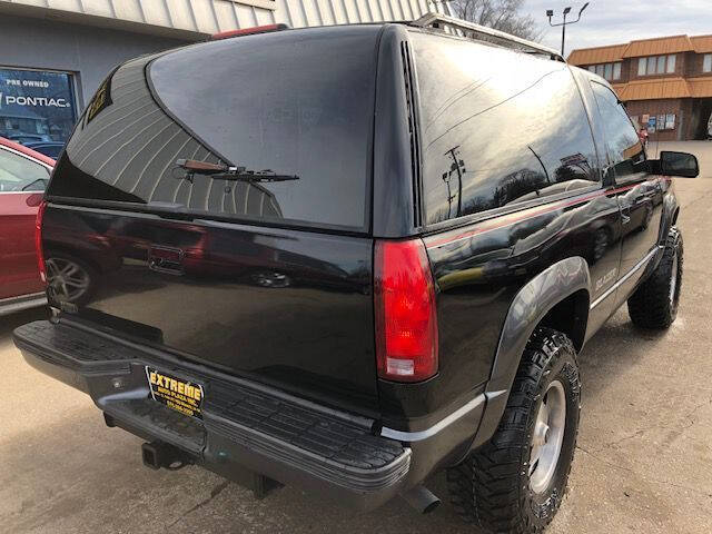
[[[578,446],[552,533],[712,532],[712,142],[665,147],[696,154],[702,168],[696,180],[676,179],[685,248],[678,320],[643,332],[622,309],[581,354]],[[22,360],[11,332],[43,314],[0,318],[0,531],[466,532],[446,503],[427,516],[402,501],[358,514],[294,487],[256,501],[197,467],[147,469],[139,438],[106,427],[89,397]],[[443,475],[428,486],[446,498]]]

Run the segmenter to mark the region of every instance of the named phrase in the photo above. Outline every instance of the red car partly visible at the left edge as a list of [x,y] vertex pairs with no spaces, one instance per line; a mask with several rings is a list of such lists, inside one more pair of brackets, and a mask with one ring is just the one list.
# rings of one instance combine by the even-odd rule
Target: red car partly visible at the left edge
[[0,137],[0,315],[46,303],[34,218],[55,160]]

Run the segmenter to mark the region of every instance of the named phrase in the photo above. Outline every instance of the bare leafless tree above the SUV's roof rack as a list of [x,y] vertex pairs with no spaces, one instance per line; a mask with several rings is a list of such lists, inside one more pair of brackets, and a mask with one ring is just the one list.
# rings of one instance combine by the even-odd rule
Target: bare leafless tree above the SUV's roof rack
[[530,14],[522,14],[524,0],[451,0],[455,17],[537,41],[541,30]]

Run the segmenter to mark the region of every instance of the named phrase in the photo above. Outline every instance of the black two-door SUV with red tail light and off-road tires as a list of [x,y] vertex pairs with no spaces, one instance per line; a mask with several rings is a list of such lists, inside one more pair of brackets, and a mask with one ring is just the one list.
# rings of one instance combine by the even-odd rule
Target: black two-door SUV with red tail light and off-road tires
[[674,320],[696,174],[603,79],[444,17],[142,57],[59,159],[38,239],[73,267],[14,342],[151,467],[422,511],[446,469],[467,521],[541,532],[576,354],[625,301]]

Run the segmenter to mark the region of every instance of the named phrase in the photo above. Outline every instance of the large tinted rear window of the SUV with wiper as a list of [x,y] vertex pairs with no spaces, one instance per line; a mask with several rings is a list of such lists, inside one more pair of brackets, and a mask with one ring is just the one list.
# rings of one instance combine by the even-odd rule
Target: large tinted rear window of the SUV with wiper
[[[89,103],[49,194],[365,229],[378,31],[284,31],[129,61]],[[180,159],[244,170],[189,176]]]

